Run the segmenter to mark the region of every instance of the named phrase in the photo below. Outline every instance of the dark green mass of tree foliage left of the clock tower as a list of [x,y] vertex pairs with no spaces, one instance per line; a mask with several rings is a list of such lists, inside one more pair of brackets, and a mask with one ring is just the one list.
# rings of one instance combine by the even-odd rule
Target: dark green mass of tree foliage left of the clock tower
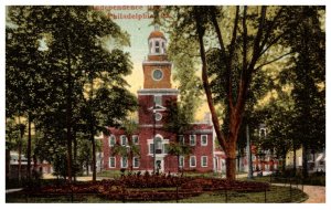
[[[129,44],[127,33],[90,7],[8,11],[7,116],[32,115],[40,133],[35,153],[61,166],[63,157],[72,159],[76,134],[94,138],[136,107],[122,77],[131,73],[129,54],[118,49]],[[115,43],[110,50],[105,48],[109,39]],[[71,164],[67,171],[56,171],[71,175]]]

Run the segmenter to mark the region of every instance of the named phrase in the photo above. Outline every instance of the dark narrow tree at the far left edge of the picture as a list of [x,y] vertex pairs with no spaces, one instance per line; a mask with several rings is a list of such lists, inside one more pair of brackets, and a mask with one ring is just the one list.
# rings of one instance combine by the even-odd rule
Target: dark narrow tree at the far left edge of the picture
[[[42,106],[47,88],[44,80],[44,56],[41,50],[42,30],[29,7],[10,7],[6,50],[7,117],[28,118],[28,169],[31,178],[32,122]],[[22,130],[22,129],[21,129]],[[23,136],[23,133],[20,135]],[[20,150],[20,149],[19,149]]]

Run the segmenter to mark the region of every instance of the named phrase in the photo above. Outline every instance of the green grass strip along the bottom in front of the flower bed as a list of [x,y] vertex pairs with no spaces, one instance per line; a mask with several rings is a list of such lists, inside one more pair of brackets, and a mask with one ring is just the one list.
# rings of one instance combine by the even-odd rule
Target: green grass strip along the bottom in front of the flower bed
[[[146,189],[143,189],[146,190]],[[169,189],[174,190],[174,189]],[[179,200],[181,203],[264,203],[265,196],[267,202],[271,203],[285,203],[285,202],[302,202],[308,199],[308,196],[299,189],[290,189],[288,187],[271,186],[270,190],[266,192],[235,192],[235,191],[214,191],[214,192],[204,192],[201,196],[192,197],[183,200]],[[28,199],[28,200],[26,200]],[[33,202],[33,203],[67,203],[72,202],[71,196],[47,196],[41,197],[29,197],[24,195],[6,195],[6,202]],[[73,202],[84,202],[84,203],[107,203],[107,202],[121,202],[121,201],[111,201],[103,199],[97,195],[74,195]],[[148,201],[148,202],[161,202],[161,201]],[[162,201],[167,203],[174,203],[172,201]]]

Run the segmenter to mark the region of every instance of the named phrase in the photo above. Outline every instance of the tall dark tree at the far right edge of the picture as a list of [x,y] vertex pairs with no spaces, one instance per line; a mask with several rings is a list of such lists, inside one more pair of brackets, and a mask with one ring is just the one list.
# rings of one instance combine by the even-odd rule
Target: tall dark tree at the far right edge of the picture
[[297,54],[290,61],[293,65],[282,76],[287,76],[286,82],[293,87],[291,96],[296,112],[291,128],[302,145],[303,177],[308,176],[308,150],[313,153],[325,146],[325,33],[321,25],[324,9],[297,7],[290,11],[298,13],[300,22],[289,25],[295,30],[286,42]]

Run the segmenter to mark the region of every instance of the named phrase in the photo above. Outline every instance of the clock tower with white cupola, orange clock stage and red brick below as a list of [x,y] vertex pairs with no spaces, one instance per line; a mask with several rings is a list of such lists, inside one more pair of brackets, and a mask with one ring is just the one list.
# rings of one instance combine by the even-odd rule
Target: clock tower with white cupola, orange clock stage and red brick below
[[162,125],[167,101],[177,102],[178,97],[178,90],[171,88],[167,39],[158,27],[148,38],[148,59],[142,62],[143,88],[138,91],[140,126]]

